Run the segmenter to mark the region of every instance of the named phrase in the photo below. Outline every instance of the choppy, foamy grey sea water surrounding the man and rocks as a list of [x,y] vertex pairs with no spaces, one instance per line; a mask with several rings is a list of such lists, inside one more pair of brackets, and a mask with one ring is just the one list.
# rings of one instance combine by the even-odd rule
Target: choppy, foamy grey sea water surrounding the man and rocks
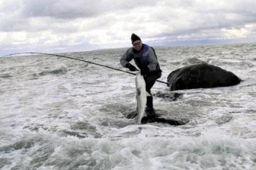
[[[125,50],[62,55],[126,70]],[[133,75],[49,55],[0,58],[0,169],[255,169],[256,44],[155,50],[164,82],[199,61],[244,81],[182,91],[156,83],[156,111],[189,122],[138,125],[126,118],[136,110]]]

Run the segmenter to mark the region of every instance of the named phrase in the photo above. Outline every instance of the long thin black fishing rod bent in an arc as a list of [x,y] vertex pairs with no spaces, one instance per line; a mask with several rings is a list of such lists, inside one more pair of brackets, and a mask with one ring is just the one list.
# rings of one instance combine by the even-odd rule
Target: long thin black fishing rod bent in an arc
[[[91,62],[91,61],[87,61],[87,60],[81,60],[81,59],[76,59],[76,58],[73,58],[73,57],[70,57],[70,56],[59,55],[59,54],[39,53],[39,52],[22,52],[22,53],[13,53],[13,54],[4,55],[4,56],[1,56],[1,58],[2,58],[2,57],[5,57],[5,56],[19,55],[19,54],[43,54],[43,55],[59,56],[59,57],[61,57],[61,58],[67,58],[67,59],[72,59],[72,60],[83,61],[83,62],[87,62],[87,63],[90,63],[90,64],[95,64],[95,65],[97,65],[97,66],[106,67],[106,68],[109,68],[109,69],[113,69],[113,70],[117,70],[117,71],[126,72],[126,73],[128,73],[128,74],[136,75],[136,74],[134,74],[134,73],[132,73],[132,72],[129,72],[129,71],[124,71],[124,70],[120,70],[120,69],[117,69],[117,68],[105,66],[105,65],[103,65],[103,64],[98,64],[98,63],[95,63],[95,62]],[[139,70],[138,70],[138,71],[139,71]],[[169,85],[169,83],[163,82],[163,81],[161,81],[161,80],[156,80],[156,82],[164,83],[164,84]]]

